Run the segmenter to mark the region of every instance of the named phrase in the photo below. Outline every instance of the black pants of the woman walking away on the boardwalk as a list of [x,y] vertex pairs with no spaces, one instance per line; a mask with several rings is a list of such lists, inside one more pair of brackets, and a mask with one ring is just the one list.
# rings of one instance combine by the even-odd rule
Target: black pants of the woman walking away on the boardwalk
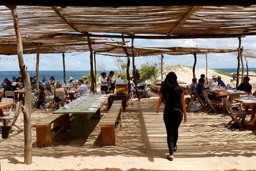
[[163,119],[166,127],[167,144],[170,155],[173,155],[173,149],[177,146],[178,129],[179,125],[181,124],[182,117],[183,114],[181,109],[168,109],[168,107],[164,108]]

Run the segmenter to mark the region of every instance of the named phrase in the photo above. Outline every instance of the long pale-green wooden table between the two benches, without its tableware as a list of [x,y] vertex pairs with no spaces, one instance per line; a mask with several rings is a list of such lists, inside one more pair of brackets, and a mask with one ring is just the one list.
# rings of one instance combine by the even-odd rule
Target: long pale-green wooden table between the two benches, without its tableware
[[[100,107],[107,98],[85,99],[70,109],[58,109],[53,114],[74,114],[73,133],[76,136],[89,135],[89,120],[100,119]],[[100,105],[91,107],[93,102],[100,102]]]

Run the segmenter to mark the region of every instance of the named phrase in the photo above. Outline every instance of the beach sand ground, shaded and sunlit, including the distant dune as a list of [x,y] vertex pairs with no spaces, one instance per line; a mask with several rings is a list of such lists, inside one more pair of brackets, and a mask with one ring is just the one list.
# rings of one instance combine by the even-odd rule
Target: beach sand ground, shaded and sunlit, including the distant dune
[[[179,80],[190,83],[186,72]],[[200,75],[201,70],[197,70]],[[209,73],[208,73],[209,74]],[[187,79],[187,80],[186,80]],[[223,80],[226,79],[223,76]],[[225,81],[225,80],[224,80]],[[33,162],[23,164],[23,132],[13,131],[0,140],[1,171],[3,170],[256,170],[256,133],[231,131],[225,123],[231,120],[222,114],[189,112],[189,121],[181,124],[174,161],[168,154],[163,106],[155,113],[158,98],[133,101],[123,111],[122,127],[116,131],[116,146],[101,146],[100,120],[91,120],[88,137],[62,133],[52,147],[37,148],[32,128]],[[104,119],[107,106],[101,109]],[[53,111],[32,112],[32,124]],[[17,125],[23,128],[23,115]]]

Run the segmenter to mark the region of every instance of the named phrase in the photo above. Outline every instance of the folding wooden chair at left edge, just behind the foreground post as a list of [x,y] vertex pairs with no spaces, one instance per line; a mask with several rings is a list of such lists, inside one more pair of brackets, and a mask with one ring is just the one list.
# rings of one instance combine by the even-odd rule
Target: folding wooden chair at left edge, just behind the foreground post
[[10,126],[10,127],[14,126],[14,127],[18,128],[20,131],[22,131],[22,128],[15,125],[15,122],[18,119],[20,111],[21,111],[21,106],[22,106],[22,101],[17,102],[15,113],[12,114],[12,112],[11,112],[7,115],[4,115],[4,117],[0,117],[0,121],[1,122],[6,122],[6,123],[9,122],[8,126]]

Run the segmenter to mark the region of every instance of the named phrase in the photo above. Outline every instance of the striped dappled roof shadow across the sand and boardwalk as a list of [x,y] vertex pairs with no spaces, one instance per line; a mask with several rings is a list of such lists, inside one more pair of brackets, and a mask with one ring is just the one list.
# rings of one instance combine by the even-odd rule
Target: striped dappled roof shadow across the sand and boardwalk
[[[99,120],[90,121],[91,133],[87,137],[61,134],[52,147],[36,148],[35,128],[32,128],[33,156],[61,158],[65,156],[126,156],[164,158],[168,153],[163,108],[155,113],[157,99],[135,101],[123,112],[122,127],[116,130],[116,146],[101,146]],[[105,109],[101,111],[103,118]],[[32,124],[46,114],[32,114]],[[255,135],[252,131],[230,131],[224,128],[228,117],[189,113],[189,122],[179,128],[176,158],[256,156]],[[22,117],[19,124],[22,125]],[[23,157],[23,132],[12,133],[7,140],[0,140],[0,158],[17,163],[14,157]],[[96,170],[96,169],[93,169]]]

